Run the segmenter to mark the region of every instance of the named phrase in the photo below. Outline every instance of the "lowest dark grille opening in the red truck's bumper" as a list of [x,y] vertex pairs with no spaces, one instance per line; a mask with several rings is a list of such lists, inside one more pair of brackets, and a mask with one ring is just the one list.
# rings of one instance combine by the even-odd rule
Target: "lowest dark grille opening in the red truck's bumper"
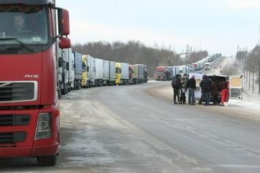
[[0,144],[16,144],[17,142],[25,142],[27,132],[9,132],[0,133]]

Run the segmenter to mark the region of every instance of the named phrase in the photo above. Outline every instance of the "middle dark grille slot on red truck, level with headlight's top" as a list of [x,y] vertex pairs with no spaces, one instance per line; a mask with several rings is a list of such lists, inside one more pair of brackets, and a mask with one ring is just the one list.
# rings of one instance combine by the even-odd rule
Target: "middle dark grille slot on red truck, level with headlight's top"
[[29,115],[0,115],[0,127],[27,126],[29,122]]

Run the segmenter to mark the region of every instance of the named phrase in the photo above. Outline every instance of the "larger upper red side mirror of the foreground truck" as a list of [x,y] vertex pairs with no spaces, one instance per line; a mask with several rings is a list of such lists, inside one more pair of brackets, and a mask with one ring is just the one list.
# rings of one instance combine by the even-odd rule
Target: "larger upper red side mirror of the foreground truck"
[[68,36],[70,34],[70,19],[68,10],[59,8],[57,10],[58,26],[59,26],[59,35]]

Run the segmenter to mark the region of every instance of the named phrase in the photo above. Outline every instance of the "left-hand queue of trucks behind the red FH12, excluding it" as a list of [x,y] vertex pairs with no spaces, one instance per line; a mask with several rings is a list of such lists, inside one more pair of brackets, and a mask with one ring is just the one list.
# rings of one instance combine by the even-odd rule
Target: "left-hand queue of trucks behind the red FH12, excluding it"
[[60,49],[57,72],[58,95],[70,90],[107,85],[133,85],[146,83],[147,66],[107,61],[81,55],[72,49]]

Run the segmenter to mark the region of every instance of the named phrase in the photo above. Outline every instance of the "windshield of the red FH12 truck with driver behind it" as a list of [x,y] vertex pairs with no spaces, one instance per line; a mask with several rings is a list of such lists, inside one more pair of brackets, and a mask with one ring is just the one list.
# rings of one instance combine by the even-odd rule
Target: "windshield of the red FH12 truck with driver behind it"
[[44,5],[0,5],[0,23],[0,46],[17,44],[14,38],[29,45],[48,43]]

